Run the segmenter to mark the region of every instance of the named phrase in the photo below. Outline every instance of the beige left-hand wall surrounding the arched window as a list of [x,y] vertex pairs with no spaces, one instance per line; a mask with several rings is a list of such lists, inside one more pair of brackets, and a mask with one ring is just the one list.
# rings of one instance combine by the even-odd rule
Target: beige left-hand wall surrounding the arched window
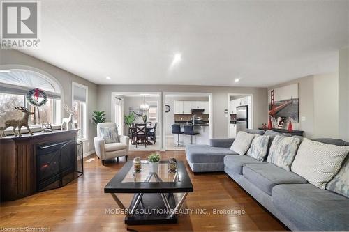
[[[29,67],[37,68],[43,70],[48,74],[52,75],[61,84],[63,88],[63,99],[67,105],[71,105],[71,93],[72,93],[72,82],[77,82],[88,86],[88,106],[87,106],[87,116],[89,118],[88,125],[88,141],[84,141],[84,153],[94,150],[94,137],[96,136],[96,127],[91,122],[92,111],[96,109],[97,100],[97,85],[77,77],[66,70],[57,68],[50,63],[41,61],[22,52],[17,52],[13,49],[0,49],[0,65],[26,65]],[[39,86],[38,86],[39,87]],[[64,117],[67,117],[67,113],[64,111]]]

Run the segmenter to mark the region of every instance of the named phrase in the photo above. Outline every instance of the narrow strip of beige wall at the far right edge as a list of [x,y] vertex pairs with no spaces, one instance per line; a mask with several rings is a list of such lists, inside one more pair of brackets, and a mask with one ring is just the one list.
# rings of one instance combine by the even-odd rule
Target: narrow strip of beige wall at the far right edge
[[339,50],[339,137],[349,141],[349,47]]

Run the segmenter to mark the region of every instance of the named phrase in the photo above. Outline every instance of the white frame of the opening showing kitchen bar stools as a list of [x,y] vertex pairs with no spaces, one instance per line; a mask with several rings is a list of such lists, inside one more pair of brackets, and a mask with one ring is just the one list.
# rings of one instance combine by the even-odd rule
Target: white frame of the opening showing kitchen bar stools
[[[197,93],[197,92],[163,92],[163,96],[162,96],[162,107],[163,109],[165,109],[165,99],[166,99],[166,95],[170,95],[170,94],[176,94],[176,95],[192,95],[193,97],[195,96],[202,96],[202,95],[206,95],[207,97],[209,97],[209,139],[213,138],[213,112],[212,112],[212,102],[213,102],[213,94],[212,93]],[[174,109],[173,109],[174,110]],[[162,111],[162,124],[163,124],[163,144],[161,145],[161,150],[166,150],[166,117],[165,117],[165,111]]]

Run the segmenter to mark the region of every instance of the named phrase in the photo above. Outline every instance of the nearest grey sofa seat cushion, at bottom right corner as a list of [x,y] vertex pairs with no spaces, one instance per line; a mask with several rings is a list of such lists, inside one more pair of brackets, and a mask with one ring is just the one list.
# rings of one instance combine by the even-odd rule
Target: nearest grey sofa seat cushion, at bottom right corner
[[277,185],[272,202],[304,231],[348,231],[349,199],[311,184]]

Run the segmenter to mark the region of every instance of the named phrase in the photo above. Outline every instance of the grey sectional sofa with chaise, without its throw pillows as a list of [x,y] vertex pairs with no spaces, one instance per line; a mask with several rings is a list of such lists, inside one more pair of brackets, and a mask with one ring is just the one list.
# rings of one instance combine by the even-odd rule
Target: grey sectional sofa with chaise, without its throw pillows
[[[271,138],[275,135],[275,132],[267,133]],[[340,139],[314,140],[349,146]],[[230,150],[233,141],[211,139],[211,146],[188,146],[186,157],[192,171],[225,171],[292,231],[349,231],[349,199],[346,196],[321,190],[296,173],[274,164],[237,155]]]

